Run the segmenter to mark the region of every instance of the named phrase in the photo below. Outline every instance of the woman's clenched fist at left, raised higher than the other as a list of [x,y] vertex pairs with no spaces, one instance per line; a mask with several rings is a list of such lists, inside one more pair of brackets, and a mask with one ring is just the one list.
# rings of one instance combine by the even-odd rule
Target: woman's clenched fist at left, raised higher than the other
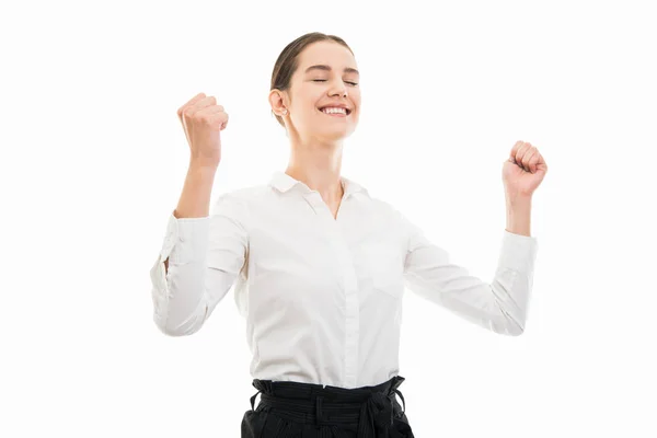
[[228,125],[228,114],[214,96],[198,93],[177,111],[183,124],[191,160],[195,165],[217,168],[221,161],[219,132]]

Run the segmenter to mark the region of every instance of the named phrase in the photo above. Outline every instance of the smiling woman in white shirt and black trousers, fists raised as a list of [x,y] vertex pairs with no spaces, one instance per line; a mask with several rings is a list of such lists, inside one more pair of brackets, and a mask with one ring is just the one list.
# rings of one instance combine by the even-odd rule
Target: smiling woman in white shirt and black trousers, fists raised
[[519,141],[504,163],[507,229],[495,279],[484,283],[341,176],[343,142],[360,113],[358,80],[339,37],[311,33],[290,43],[269,93],[290,140],[288,168],[267,185],[222,194],[212,215],[228,114],[203,93],[178,110],[191,161],[151,269],[154,321],[168,335],[195,333],[235,283],[258,390],[242,437],[413,437],[397,389],[405,285],[496,333],[525,328],[541,154]]

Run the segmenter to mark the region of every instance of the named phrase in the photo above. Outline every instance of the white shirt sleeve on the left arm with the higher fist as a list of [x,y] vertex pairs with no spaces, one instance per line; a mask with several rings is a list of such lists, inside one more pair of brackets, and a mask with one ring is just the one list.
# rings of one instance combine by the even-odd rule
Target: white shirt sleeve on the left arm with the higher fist
[[245,203],[223,194],[215,207],[203,218],[176,218],[173,211],[169,217],[164,243],[150,269],[153,320],[166,335],[197,332],[245,265]]

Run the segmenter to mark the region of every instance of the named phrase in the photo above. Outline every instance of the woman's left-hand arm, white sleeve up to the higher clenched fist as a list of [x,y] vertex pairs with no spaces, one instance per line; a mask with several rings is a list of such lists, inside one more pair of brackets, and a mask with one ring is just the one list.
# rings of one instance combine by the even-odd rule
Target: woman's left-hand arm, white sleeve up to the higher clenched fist
[[226,296],[246,260],[247,210],[234,194],[210,215],[221,161],[219,132],[228,124],[214,96],[199,93],[177,111],[189,143],[189,168],[164,243],[150,269],[153,320],[171,336],[197,332]]

